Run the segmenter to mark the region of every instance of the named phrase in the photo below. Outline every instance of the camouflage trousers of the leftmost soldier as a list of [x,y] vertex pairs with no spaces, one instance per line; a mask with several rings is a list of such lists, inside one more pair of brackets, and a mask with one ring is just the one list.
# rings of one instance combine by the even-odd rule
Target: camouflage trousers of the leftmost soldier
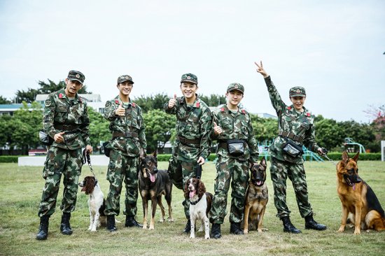
[[38,208],[38,217],[50,216],[55,213],[57,194],[59,192],[62,175],[64,176],[64,191],[60,210],[64,213],[71,213],[75,210],[78,180],[82,166],[80,157],[81,148],[66,150],[63,148],[50,147],[43,168],[45,185]]

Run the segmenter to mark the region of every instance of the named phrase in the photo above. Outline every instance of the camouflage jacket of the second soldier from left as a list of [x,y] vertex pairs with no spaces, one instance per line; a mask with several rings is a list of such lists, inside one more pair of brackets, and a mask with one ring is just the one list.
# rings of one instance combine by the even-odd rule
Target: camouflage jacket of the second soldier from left
[[[147,148],[145,126],[141,115],[141,108],[137,104],[134,104],[134,102],[130,99],[128,108],[126,108],[125,116],[120,117],[115,114],[115,111],[120,104],[123,104],[123,102],[120,100],[119,96],[106,102],[104,118],[111,122],[109,127],[110,131],[112,133],[114,131],[132,132],[137,134],[137,136],[130,138],[113,137],[111,142],[107,145],[107,148],[118,150],[122,152],[123,155],[137,157],[139,156],[139,150],[141,148],[145,151]],[[124,104],[123,107],[125,107]]]

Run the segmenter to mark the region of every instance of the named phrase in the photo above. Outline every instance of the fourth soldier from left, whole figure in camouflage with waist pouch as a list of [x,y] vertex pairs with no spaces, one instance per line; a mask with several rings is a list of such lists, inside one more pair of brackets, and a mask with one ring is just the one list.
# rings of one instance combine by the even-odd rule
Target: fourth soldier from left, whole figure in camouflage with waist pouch
[[[244,86],[232,83],[226,92],[228,103],[213,113],[213,139],[218,141],[216,155],[216,182],[210,212],[211,237],[221,238],[221,224],[225,218],[230,181],[232,201],[230,207],[230,233],[244,234],[240,223],[244,218],[244,200],[248,185],[249,166],[257,164],[258,145],[251,127],[250,115],[239,108],[244,97]],[[243,149],[233,152],[233,147]]]

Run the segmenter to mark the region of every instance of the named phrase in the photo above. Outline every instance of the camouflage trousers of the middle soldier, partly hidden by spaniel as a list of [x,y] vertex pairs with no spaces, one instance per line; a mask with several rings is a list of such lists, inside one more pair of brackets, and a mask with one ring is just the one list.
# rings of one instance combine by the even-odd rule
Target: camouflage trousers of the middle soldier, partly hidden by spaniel
[[[194,178],[197,173],[197,163],[196,162],[184,162],[176,160],[176,158],[171,157],[169,159],[169,176],[172,180],[172,183],[185,192],[185,184],[190,178]],[[182,202],[186,218],[190,220],[190,200],[185,198]]]

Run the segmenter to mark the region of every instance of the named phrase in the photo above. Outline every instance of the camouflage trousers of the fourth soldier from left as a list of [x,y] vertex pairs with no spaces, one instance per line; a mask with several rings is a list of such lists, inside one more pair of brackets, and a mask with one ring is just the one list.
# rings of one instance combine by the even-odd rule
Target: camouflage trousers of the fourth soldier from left
[[244,219],[244,200],[248,186],[248,161],[239,161],[218,155],[214,199],[210,211],[210,222],[223,224],[227,214],[228,191],[231,181],[230,222],[239,223]]

